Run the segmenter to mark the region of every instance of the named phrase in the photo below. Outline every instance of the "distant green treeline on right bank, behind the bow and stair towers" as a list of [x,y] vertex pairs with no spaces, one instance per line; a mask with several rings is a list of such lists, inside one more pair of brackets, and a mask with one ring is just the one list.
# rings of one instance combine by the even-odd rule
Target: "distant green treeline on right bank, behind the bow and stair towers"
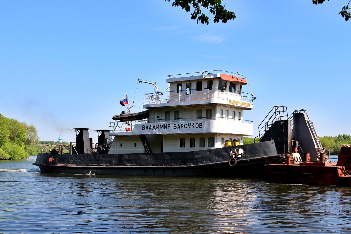
[[[319,136],[320,143],[326,148],[326,151],[332,155],[338,155],[341,145],[351,144],[351,135],[339,134],[338,136]],[[244,136],[244,144],[254,143],[254,139],[251,137]],[[256,138],[256,142],[259,142],[259,139]]]

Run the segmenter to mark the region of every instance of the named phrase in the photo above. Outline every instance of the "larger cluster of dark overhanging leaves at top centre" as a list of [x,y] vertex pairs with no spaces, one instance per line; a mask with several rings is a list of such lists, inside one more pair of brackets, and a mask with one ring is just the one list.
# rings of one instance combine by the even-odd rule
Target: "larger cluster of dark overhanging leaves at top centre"
[[[164,0],[170,2],[171,0]],[[209,12],[214,15],[213,22],[218,23],[222,21],[223,23],[228,22],[228,20],[234,20],[237,18],[235,13],[232,11],[227,11],[225,5],[221,5],[221,0],[174,0],[172,3],[173,6],[180,6],[182,9],[185,9],[186,12],[190,12],[191,7],[193,7],[193,12],[190,14],[192,20],[197,20],[201,24],[207,24],[210,21],[210,17],[202,13],[201,9],[209,9]]]

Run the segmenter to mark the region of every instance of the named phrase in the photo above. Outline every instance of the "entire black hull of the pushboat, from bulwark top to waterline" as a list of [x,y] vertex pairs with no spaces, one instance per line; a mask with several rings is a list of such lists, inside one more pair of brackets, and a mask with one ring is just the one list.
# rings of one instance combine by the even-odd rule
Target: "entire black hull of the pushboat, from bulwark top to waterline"
[[[230,152],[244,150],[245,156],[230,165]],[[50,163],[49,158],[55,162]],[[44,173],[144,175],[144,176],[206,176],[264,178],[264,165],[282,162],[274,141],[191,152],[145,154],[46,154],[40,153],[33,165]]]

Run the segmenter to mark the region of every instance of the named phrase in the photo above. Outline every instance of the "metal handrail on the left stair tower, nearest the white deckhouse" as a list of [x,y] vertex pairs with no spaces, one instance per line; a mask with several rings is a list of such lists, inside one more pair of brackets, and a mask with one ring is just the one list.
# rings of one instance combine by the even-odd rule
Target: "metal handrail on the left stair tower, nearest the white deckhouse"
[[[281,114],[282,112],[283,114]],[[271,116],[268,118],[269,115]],[[260,140],[262,136],[268,131],[268,128],[270,128],[275,121],[282,119],[288,119],[286,106],[274,106],[258,126],[258,136]]]

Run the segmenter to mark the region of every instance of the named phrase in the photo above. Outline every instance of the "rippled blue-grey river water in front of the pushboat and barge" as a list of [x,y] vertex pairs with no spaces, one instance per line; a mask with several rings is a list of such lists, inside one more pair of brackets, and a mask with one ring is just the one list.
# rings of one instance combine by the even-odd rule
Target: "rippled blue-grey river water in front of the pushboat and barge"
[[44,174],[0,161],[0,233],[351,233],[351,187]]

